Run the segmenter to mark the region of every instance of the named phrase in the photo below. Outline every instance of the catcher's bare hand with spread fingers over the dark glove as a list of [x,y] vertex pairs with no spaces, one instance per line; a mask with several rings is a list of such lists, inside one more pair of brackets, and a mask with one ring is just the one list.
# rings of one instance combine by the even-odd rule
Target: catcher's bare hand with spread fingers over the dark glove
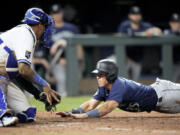
[[46,93],[47,101],[50,105],[52,105],[52,101],[55,100],[57,103],[60,102],[58,97],[61,97],[57,92],[52,90],[49,86],[45,86],[43,91]]

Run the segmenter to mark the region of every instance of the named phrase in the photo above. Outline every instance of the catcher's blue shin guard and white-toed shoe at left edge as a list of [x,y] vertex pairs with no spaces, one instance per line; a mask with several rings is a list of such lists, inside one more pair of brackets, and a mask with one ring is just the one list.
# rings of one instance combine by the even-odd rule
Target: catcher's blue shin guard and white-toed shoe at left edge
[[5,95],[5,84],[0,79],[0,127],[15,124],[18,119],[13,116],[12,110],[8,109]]

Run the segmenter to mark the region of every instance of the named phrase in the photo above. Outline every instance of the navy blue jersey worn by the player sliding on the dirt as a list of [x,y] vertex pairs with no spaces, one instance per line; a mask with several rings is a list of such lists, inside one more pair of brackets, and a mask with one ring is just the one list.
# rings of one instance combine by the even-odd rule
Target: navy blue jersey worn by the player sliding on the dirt
[[119,103],[120,109],[129,112],[150,112],[158,101],[157,94],[151,86],[125,78],[117,78],[110,91],[99,87],[93,98],[99,101],[114,100]]

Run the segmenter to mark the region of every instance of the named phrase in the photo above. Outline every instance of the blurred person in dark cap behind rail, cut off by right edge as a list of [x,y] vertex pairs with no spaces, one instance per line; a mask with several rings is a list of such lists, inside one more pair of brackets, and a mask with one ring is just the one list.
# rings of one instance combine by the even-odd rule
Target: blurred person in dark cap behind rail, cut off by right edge
[[[180,35],[180,15],[173,13],[169,20],[169,29],[164,30],[164,35]],[[174,45],[173,47],[173,81],[177,81],[180,76],[180,47],[179,45]]]

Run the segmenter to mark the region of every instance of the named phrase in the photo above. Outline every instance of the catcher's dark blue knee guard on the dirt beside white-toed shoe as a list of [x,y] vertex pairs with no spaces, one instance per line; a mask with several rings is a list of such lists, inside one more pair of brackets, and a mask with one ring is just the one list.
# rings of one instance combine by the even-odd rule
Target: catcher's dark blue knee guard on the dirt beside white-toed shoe
[[36,116],[36,108],[30,107],[26,111],[18,113],[16,116],[18,117],[19,122],[21,123],[34,122]]

